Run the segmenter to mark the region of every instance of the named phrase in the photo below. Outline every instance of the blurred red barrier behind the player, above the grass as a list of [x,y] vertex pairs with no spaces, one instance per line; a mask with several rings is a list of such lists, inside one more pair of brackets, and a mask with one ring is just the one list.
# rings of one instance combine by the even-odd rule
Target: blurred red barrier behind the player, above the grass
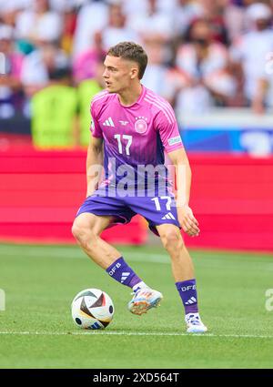
[[[187,245],[231,250],[273,250],[273,158],[190,153],[191,207],[200,223]],[[71,225],[85,199],[86,151],[13,150],[0,153],[0,239],[74,242]],[[135,217],[106,230],[119,243],[147,241]]]

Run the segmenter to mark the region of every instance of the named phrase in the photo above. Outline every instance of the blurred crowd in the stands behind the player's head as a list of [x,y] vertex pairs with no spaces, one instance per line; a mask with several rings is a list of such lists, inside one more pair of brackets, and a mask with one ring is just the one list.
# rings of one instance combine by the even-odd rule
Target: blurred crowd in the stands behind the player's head
[[143,84],[179,112],[263,114],[273,107],[272,11],[272,0],[0,0],[0,117],[30,117],[29,101],[51,85],[92,80],[97,92],[106,50],[124,40],[145,46]]

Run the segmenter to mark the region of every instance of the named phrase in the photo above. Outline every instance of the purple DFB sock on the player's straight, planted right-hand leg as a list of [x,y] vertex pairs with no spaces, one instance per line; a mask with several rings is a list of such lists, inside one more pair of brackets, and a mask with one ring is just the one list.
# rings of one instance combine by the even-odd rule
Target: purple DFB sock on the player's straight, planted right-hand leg
[[176,282],[177,290],[185,308],[185,314],[197,313],[197,284],[196,280]]

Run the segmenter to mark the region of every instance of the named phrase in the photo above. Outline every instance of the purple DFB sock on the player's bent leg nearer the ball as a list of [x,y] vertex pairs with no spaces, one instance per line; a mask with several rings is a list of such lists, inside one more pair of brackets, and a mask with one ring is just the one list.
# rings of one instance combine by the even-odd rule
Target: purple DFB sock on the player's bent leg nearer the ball
[[110,277],[114,278],[114,280],[117,280],[117,282],[122,283],[129,288],[133,288],[138,282],[141,282],[140,278],[136,276],[135,271],[126,264],[126,261],[122,257],[115,260],[115,262],[106,269],[106,272]]

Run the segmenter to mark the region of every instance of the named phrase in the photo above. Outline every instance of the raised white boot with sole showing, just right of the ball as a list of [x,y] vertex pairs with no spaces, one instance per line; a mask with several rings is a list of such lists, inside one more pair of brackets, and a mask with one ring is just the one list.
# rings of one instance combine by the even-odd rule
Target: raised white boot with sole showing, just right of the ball
[[139,289],[133,294],[133,299],[128,303],[128,310],[138,315],[146,313],[151,308],[157,308],[160,300],[163,299],[159,291],[149,288]]

